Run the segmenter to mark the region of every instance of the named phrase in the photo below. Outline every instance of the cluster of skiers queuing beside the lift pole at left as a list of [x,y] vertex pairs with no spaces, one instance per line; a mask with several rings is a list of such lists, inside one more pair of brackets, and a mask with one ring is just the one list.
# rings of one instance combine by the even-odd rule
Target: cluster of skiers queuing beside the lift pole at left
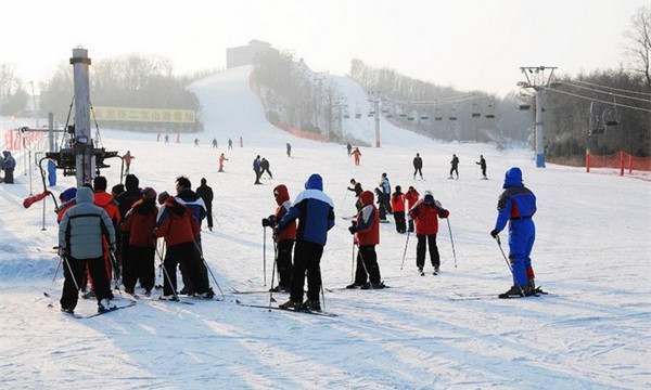
[[[156,194],[152,187],[140,188],[135,174],[126,177],[124,188],[115,185],[113,194],[106,193],[106,179],[100,176],[92,185],[71,187],[60,196],[59,250],[65,276],[61,310],[74,312],[78,291],[85,290],[87,283],[87,297],[95,296],[98,310],[111,310],[112,278],[116,283],[122,278],[125,291],[131,295],[140,281],[149,296],[155,285],[156,242],[161,237],[166,244],[162,298],[178,299],[178,294],[213,298],[200,233],[206,217],[208,229],[213,227],[213,191],[206,180],[202,179],[197,188],[201,195],[191,190],[186,177],[177,178],[176,196]],[[183,276],[180,292],[177,265]]]

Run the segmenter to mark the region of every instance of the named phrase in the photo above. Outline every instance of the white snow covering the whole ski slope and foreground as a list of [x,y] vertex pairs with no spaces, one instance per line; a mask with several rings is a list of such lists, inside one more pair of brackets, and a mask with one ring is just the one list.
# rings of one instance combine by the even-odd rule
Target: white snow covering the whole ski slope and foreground
[[[29,193],[24,171],[18,167],[17,184],[0,185],[0,388],[651,387],[649,182],[553,165],[536,169],[527,151],[436,143],[388,123],[383,123],[383,147],[362,148],[362,166],[354,167],[341,145],[297,140],[267,123],[259,100],[248,90],[250,70],[232,69],[192,86],[204,107],[206,131],[182,134],[181,144],[174,143],[174,135],[165,145],[155,142],[155,134],[102,131],[106,150],[128,148],[136,156],[131,170],[141,186],[171,193],[177,176],[189,176],[193,187],[207,179],[215,192],[216,222],[215,232],[204,231],[202,239],[226,294],[224,302],[192,300],[194,306],[186,306],[142,299],[135,308],[95,318],[63,315],[58,310],[61,269],[52,281],[59,258],[52,249],[58,230],[51,200],[47,230],[41,231],[42,203],[22,207]],[[356,101],[355,84],[334,79]],[[354,114],[355,107],[350,109]],[[345,131],[363,139],[371,119],[352,118]],[[244,148],[239,147],[240,134]],[[195,136],[200,147],[192,145]],[[229,136],[232,151],[225,148]],[[210,146],[213,138],[219,141],[217,151]],[[284,154],[285,142],[293,145],[292,158]],[[230,160],[226,172],[218,173],[221,152]],[[425,182],[411,179],[417,152],[423,157]],[[461,159],[460,180],[446,179],[452,153]],[[252,160],[258,154],[271,162],[275,179],[254,186]],[[480,154],[488,161],[488,181],[478,180],[474,161]],[[548,296],[496,298],[511,282],[488,232],[503,171],[511,166],[523,169],[525,184],[538,197],[532,258]],[[327,292],[324,310],[339,317],[237,306],[235,298],[269,302],[266,294],[229,291],[264,290],[271,284],[273,245],[267,232],[264,286],[259,221],[276,208],[272,187],[288,185],[293,198],[314,172],[323,177],[337,216],[321,260],[324,287],[343,287],[350,280],[349,222],[339,218],[354,212],[354,196],[345,188],[355,178],[372,190],[382,172],[392,186],[414,185],[421,194],[432,190],[450,210],[457,266],[447,222],[441,221],[441,274],[431,275],[427,264],[424,277],[417,274],[413,235],[400,271],[407,237],[395,232],[392,221],[381,225],[378,247],[382,277],[392,288]],[[38,172],[34,174],[38,192]],[[103,174],[113,185],[118,168]],[[73,184],[60,174],[54,193]],[[508,250],[506,232],[502,246]],[[210,284],[217,290],[212,278]],[[288,298],[273,296],[278,303]],[[93,300],[79,300],[79,314],[95,310]]]

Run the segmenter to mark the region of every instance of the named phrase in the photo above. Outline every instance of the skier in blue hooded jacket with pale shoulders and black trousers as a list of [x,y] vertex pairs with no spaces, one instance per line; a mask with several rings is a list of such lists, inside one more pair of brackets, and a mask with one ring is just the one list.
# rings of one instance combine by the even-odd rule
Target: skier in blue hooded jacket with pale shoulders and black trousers
[[[290,299],[280,306],[282,309],[320,311],[319,289],[321,270],[319,263],[328,231],[334,226],[332,200],[323,193],[323,179],[317,173],[305,182],[305,191],[296,196],[292,207],[282,218],[273,233],[278,236],[298,219],[292,288]],[[303,301],[303,285],[307,272],[307,300]]]

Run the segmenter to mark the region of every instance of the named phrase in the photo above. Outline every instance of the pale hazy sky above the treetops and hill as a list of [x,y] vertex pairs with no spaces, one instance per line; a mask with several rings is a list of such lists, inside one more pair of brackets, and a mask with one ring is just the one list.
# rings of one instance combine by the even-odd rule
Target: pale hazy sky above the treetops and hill
[[344,75],[357,57],[503,93],[520,66],[618,67],[642,5],[651,0],[0,0],[0,62],[37,84],[81,46],[93,61],[161,55],[182,74],[225,68],[226,48],[258,39],[318,72]]

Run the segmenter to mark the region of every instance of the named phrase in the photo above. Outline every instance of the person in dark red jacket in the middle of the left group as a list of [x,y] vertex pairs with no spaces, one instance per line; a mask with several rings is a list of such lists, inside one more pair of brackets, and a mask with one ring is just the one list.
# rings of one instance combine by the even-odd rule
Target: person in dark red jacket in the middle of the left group
[[156,227],[157,214],[156,192],[145,187],[142,199],[136,202],[125,216],[122,231],[128,234],[128,240],[123,243],[127,252],[123,259],[123,282],[127,294],[133,294],[139,278],[145,296],[154,288],[156,237],[152,236],[152,232]]

